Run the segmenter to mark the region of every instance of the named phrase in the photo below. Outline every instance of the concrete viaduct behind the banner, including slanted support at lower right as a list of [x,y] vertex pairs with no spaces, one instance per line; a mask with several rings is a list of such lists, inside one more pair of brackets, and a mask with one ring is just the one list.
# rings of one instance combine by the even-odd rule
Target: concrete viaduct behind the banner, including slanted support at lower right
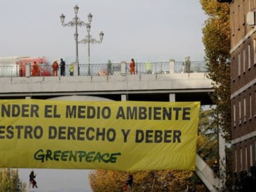
[[[114,101],[200,101],[212,104],[211,80],[206,73],[166,73],[73,77],[1,77],[0,99],[82,99]],[[208,190],[217,191],[221,180],[196,156],[196,173]]]

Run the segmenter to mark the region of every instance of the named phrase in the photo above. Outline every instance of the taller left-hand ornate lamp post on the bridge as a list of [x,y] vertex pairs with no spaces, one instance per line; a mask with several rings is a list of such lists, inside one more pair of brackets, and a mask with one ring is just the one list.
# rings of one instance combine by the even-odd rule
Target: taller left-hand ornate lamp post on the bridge
[[77,65],[79,65],[79,53],[78,53],[78,33],[77,33],[77,26],[85,26],[87,25],[85,22],[83,22],[82,20],[79,19],[79,17],[77,17],[78,11],[79,11],[79,6],[75,6],[74,7],[74,11],[75,11],[75,17],[73,18],[72,21],[68,22],[68,23],[64,23],[65,20],[65,15],[61,14],[60,18],[61,18],[61,23],[63,27],[69,26],[69,27],[74,27],[75,26],[75,62],[77,62]]

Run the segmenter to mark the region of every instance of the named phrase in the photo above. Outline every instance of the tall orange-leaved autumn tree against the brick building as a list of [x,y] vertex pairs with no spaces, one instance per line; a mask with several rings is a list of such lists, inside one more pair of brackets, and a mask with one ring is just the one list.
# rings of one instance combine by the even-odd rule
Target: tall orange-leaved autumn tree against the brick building
[[[229,4],[216,0],[200,0],[202,9],[208,15],[203,27],[205,61],[209,69],[208,78],[213,80],[212,100],[216,104],[215,120],[223,130],[226,141],[231,140],[231,100],[230,100],[230,19]],[[226,148],[226,190],[231,189],[232,158]]]

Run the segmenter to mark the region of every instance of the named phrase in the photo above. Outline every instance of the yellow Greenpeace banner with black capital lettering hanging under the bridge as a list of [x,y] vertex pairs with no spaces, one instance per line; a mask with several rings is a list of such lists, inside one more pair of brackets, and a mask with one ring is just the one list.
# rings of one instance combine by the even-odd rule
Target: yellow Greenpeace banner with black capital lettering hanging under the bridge
[[0,100],[0,167],[194,170],[199,102]]

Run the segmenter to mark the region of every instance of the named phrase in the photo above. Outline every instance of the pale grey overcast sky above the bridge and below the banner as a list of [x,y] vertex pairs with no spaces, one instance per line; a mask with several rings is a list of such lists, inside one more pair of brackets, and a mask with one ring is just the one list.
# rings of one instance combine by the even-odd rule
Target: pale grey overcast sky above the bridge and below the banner
[[[181,61],[191,56],[203,59],[202,27],[206,19],[199,0],[0,0],[0,57],[46,56],[75,61],[74,27],[62,27],[75,16],[79,6],[80,20],[87,22],[92,13],[91,35],[102,44],[90,46],[91,61],[137,61],[159,58]],[[79,27],[79,40],[86,28]],[[79,44],[79,60],[87,62],[87,44]],[[91,62],[91,63],[92,63]],[[20,170],[28,182],[31,169]],[[37,191],[87,191],[88,170],[38,170]],[[89,190],[90,191],[90,190]]]

